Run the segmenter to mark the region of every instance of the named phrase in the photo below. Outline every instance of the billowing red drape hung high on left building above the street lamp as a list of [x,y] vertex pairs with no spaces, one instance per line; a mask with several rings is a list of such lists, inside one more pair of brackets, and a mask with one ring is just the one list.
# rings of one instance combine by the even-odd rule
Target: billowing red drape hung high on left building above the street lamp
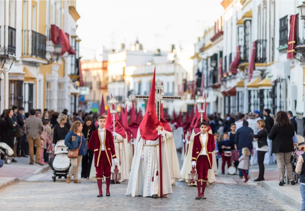
[[63,55],[65,52],[68,52],[69,54],[75,55],[76,52],[70,45],[69,41],[69,34],[65,33],[62,29],[59,29],[56,25],[51,25],[51,40],[56,45],[56,43],[59,43],[63,46],[61,54]]

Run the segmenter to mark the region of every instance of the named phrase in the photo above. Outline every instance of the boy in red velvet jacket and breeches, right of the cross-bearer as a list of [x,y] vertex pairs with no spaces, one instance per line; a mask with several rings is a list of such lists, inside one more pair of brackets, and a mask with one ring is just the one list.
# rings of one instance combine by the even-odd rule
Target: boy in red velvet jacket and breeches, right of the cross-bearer
[[[208,170],[212,169],[212,152],[215,150],[214,136],[207,133],[208,123],[200,123],[200,133],[194,137],[192,166],[196,166],[198,195],[196,199],[206,199],[204,190],[208,180]],[[201,190],[202,186],[202,190]],[[200,192],[201,190],[201,192]]]

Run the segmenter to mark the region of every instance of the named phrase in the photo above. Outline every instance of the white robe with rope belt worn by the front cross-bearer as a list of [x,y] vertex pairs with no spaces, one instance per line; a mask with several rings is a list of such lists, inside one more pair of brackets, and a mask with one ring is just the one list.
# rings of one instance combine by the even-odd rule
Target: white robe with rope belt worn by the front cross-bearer
[[[165,137],[164,134],[163,137]],[[141,138],[140,130],[138,129],[137,139],[135,143],[135,153],[131,164],[126,195],[147,197],[157,194],[160,196],[160,174],[158,176],[156,175],[157,170],[160,171],[159,146],[143,146],[156,144],[159,144],[159,139],[154,141],[144,140]],[[161,147],[163,195],[166,195],[171,194],[173,191],[170,183],[165,138],[162,139]],[[141,155],[144,155],[144,160],[141,159]],[[154,177],[154,181],[152,181],[152,176]]]

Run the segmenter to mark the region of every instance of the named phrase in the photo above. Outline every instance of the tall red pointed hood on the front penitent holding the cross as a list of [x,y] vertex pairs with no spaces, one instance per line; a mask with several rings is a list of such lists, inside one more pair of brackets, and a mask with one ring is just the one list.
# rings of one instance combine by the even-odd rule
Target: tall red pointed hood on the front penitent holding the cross
[[140,123],[140,134],[144,140],[156,140],[158,138],[158,131],[156,128],[162,126],[162,123],[158,120],[156,108],[155,108],[155,94],[156,94],[156,68],[152,77],[152,85],[149,92],[149,98],[147,108],[142,122]]

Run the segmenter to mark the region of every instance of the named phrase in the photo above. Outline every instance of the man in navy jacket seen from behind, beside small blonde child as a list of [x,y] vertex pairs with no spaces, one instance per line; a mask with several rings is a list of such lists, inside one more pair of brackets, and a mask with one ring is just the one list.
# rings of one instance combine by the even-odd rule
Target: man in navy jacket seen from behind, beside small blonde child
[[[253,145],[252,141],[253,139],[249,136],[250,133],[253,133],[253,130],[248,127],[249,123],[247,121],[243,121],[242,127],[239,128],[236,131],[235,134],[235,144],[237,146],[239,157],[242,156],[242,148],[247,147],[249,151],[252,153]],[[249,156],[249,159],[251,158],[251,154]],[[249,174],[249,170],[246,170],[246,173]],[[242,178],[242,170],[239,169],[239,178]]]

